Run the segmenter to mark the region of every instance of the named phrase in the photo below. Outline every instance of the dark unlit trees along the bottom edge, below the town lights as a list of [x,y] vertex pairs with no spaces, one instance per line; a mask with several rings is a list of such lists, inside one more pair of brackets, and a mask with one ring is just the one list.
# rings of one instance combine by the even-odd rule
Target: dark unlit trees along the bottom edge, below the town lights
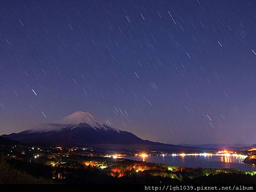
[[[239,173],[213,174],[208,170],[205,176],[205,169],[197,169],[196,177],[191,177],[195,173],[183,173],[182,180],[170,178],[167,175],[156,174],[152,176],[148,171],[141,173],[131,173],[129,176],[112,177],[108,172],[94,167],[65,168],[52,167],[35,162],[24,162],[19,160],[5,160],[0,158],[0,183],[65,183],[65,184],[227,184],[227,183],[256,183],[255,176]],[[201,176],[200,176],[201,175]]]

